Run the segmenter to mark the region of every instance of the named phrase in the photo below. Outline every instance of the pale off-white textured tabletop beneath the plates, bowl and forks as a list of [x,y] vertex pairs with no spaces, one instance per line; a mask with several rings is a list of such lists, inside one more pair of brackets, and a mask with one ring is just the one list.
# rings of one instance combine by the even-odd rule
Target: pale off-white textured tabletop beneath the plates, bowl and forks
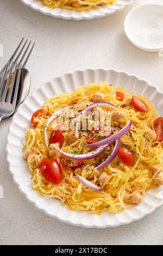
[[[113,68],[148,80],[163,91],[163,57],[143,52],[130,44],[123,31],[129,10],[141,3],[162,0],[136,0],[114,15],[90,21],[66,21],[44,16],[18,0],[0,0],[0,43],[8,60],[20,39],[36,42],[27,68],[32,75],[31,91],[52,77],[76,69]],[[11,119],[0,124],[1,245],[161,245],[163,206],[138,222],[114,229],[84,229],[49,218],[27,202],[8,171],[5,145]]]

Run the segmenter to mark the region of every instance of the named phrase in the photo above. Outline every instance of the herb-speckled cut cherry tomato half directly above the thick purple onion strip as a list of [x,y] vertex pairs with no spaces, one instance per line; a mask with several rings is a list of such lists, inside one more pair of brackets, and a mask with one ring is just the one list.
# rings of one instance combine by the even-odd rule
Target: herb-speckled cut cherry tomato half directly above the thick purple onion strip
[[98,141],[102,141],[103,139],[109,137],[111,135],[111,128],[104,127],[104,130],[92,130],[87,135],[87,143],[95,143]]

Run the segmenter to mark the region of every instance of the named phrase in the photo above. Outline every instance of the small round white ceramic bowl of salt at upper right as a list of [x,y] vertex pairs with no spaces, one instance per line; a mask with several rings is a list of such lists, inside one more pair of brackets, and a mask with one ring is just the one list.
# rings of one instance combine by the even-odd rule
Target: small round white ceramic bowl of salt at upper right
[[[146,36],[143,26],[146,23]],[[154,30],[160,27],[160,31],[154,34]],[[124,32],[129,41],[141,50],[148,52],[159,52],[163,48],[163,5],[161,4],[143,4],[132,9],[124,21]],[[137,34],[139,33],[139,36]],[[153,38],[158,36],[159,46],[154,42]],[[143,38],[143,40],[142,40]],[[150,42],[151,41],[151,42]]]

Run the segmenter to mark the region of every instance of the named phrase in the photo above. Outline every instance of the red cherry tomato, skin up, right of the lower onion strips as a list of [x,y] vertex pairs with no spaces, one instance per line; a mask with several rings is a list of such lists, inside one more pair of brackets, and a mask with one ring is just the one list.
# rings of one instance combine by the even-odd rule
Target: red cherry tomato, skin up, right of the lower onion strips
[[135,165],[135,157],[131,150],[127,148],[120,148],[118,152],[118,157],[120,157],[120,160],[126,164],[127,166],[134,166]]

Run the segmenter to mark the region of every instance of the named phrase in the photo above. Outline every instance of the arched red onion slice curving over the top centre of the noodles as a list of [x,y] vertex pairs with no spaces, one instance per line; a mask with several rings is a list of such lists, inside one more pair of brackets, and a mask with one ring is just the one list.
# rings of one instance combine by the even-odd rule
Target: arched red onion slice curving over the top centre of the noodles
[[76,136],[78,138],[78,127],[79,127],[79,123],[80,123],[80,118],[82,116],[82,114],[84,112],[86,112],[87,110],[93,108],[93,107],[97,107],[97,106],[102,106],[102,107],[110,107],[110,108],[114,108],[117,109],[118,107],[109,103],[109,102],[96,102],[96,103],[92,103],[91,105],[87,106],[86,108],[83,109],[82,112],[80,112],[78,118],[77,118],[77,123],[76,123]]

